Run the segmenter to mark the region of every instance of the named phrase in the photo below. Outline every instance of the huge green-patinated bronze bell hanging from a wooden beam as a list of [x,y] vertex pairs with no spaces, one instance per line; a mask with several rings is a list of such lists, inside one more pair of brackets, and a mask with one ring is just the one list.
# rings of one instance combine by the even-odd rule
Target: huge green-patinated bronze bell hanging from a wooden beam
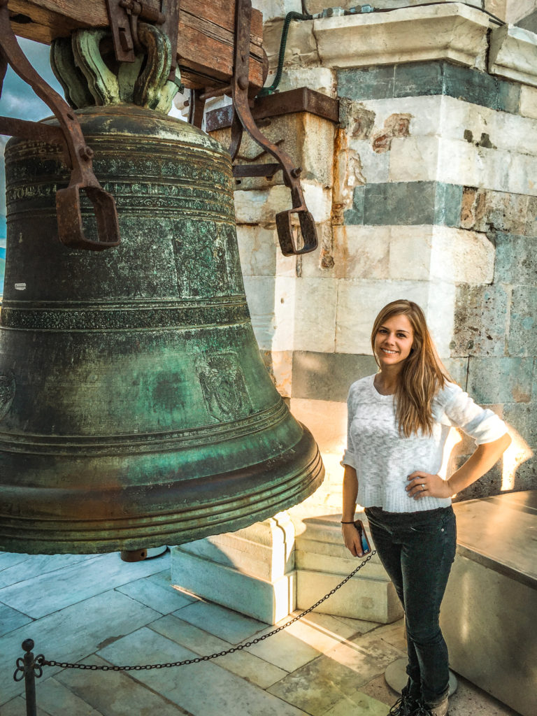
[[[169,105],[170,83],[159,97],[147,76],[130,81],[130,102],[120,92],[107,103],[105,70],[99,82],[92,72],[94,106],[77,116],[117,203],[120,246],[59,243],[60,148],[6,147],[3,551],[135,550],[233,531],[303,500],[324,472],[253,336],[228,153],[147,108]],[[97,240],[89,202],[82,216]]]

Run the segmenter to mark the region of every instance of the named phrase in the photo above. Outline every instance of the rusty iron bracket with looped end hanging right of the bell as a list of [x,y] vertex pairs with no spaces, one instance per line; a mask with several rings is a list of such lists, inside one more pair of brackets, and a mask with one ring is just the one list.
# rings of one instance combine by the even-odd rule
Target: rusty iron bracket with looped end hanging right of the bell
[[[248,77],[249,77],[249,61],[250,61],[250,25],[251,25],[251,0],[237,0],[236,3],[236,38],[235,38],[235,68],[232,82],[232,98],[233,98],[233,120],[231,123],[231,147],[230,154],[232,160],[238,154],[241,146],[243,130],[255,140],[258,145],[269,152],[281,165],[284,173],[284,183],[291,190],[292,208],[287,211],[280,211],[276,214],[276,228],[278,230],[278,238],[281,251],[284,256],[292,254],[308,253],[314,251],[317,246],[317,233],[314,218],[306,207],[304,201],[304,193],[299,180],[301,169],[294,166],[291,157],[280,149],[273,142],[270,142],[258,129],[256,122],[253,120],[250,97],[248,93]],[[258,165],[252,165],[250,170],[255,171],[258,175]],[[261,165],[265,173],[267,165]],[[273,167],[271,167],[272,170]],[[245,169],[241,168],[240,173],[235,176],[245,176]],[[272,172],[274,173],[274,172]],[[298,237],[294,236],[292,226],[292,215],[296,214],[299,218],[301,232],[301,246],[299,246]]]

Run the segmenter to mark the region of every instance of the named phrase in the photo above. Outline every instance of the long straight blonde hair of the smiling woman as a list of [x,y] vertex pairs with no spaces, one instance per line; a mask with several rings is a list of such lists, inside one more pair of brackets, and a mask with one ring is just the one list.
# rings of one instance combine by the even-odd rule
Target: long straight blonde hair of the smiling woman
[[[450,374],[438,357],[435,344],[427,328],[427,321],[420,306],[414,301],[400,299],[384,306],[373,324],[371,344],[374,358],[374,339],[385,321],[392,316],[407,316],[414,331],[414,341],[410,355],[405,359],[395,391],[395,417],[399,432],[410,437],[413,432],[422,430],[426,435],[432,432],[432,400],[446,381],[451,381]],[[380,366],[379,366],[380,367]]]

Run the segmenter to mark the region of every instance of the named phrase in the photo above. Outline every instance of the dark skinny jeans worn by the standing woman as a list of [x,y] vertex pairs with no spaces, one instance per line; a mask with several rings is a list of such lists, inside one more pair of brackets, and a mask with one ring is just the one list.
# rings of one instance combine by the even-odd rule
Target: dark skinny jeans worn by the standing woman
[[448,647],[440,631],[440,604],[455,558],[452,507],[421,512],[365,510],[380,561],[405,610],[407,674],[427,705],[448,695]]

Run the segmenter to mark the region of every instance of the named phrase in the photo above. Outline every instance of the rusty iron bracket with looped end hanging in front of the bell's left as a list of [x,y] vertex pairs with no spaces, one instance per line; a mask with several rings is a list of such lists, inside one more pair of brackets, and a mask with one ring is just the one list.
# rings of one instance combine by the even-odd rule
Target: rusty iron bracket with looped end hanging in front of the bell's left
[[[42,138],[47,142],[64,146],[64,159],[71,170],[69,186],[56,193],[58,235],[66,246],[102,251],[120,243],[120,228],[117,210],[112,195],[102,189],[92,168],[93,152],[86,145],[82,129],[71,107],[35,71],[19,47],[9,21],[7,0],[0,0],[0,55],[3,63],[11,65],[16,74],[29,84],[36,95],[45,102],[59,121],[62,137],[56,127],[39,122],[22,122],[8,117],[0,118],[0,131],[8,135],[28,136],[34,130],[32,139]],[[32,125],[32,126],[30,126]],[[84,236],[80,212],[80,190],[84,190],[95,211],[99,241]]]

